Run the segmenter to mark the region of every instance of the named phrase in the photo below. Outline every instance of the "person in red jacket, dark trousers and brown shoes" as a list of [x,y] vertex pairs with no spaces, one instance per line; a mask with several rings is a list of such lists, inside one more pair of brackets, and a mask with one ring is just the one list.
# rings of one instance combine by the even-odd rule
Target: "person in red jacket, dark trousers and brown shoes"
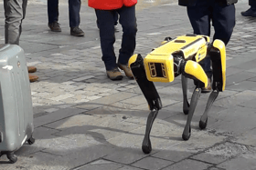
[[[111,80],[121,80],[124,74],[133,78],[132,71],[128,67],[128,61],[133,55],[136,45],[137,24],[135,5],[137,0],[89,0],[88,5],[95,9],[100,28],[102,61],[106,67],[107,76]],[[123,38],[119,50],[118,62],[114,54],[114,15],[118,13],[119,23],[123,27]],[[119,68],[118,68],[119,67]]]

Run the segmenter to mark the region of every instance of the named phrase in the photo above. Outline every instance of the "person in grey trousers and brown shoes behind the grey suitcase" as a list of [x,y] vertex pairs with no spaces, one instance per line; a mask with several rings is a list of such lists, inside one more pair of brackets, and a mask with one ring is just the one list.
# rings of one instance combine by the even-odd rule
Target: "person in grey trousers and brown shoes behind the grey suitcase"
[[[22,32],[22,20],[26,15],[27,0],[4,0],[5,8],[5,44],[19,45]],[[27,66],[28,73],[37,71],[35,66]],[[29,81],[35,82],[37,75],[29,75]]]

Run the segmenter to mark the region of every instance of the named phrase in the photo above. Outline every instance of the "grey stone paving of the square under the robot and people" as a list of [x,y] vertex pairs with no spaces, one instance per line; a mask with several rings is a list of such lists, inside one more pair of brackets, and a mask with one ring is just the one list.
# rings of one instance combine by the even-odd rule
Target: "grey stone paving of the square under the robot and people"
[[[237,25],[227,46],[227,87],[210,110],[207,129],[199,130],[198,121],[208,95],[201,95],[191,138],[183,141],[187,115],[182,114],[180,78],[157,83],[164,108],[153,126],[153,151],[144,155],[141,145],[149,113],[144,95],[134,80],[113,82],[105,75],[94,10],[81,6],[85,36],[74,37],[69,35],[67,5],[59,6],[62,32],[52,33],[44,1],[31,1],[20,45],[27,65],[36,65],[39,76],[30,84],[36,143],[16,152],[15,165],[5,164],[2,156],[0,169],[255,170],[256,24],[254,18],[240,16],[249,7],[247,1],[236,7]],[[186,8],[176,4],[141,7],[136,15],[135,53],[144,56],[165,36],[192,32]],[[4,15],[0,17],[4,43]],[[116,53],[121,35],[116,34]],[[193,82],[188,85],[191,95]]]

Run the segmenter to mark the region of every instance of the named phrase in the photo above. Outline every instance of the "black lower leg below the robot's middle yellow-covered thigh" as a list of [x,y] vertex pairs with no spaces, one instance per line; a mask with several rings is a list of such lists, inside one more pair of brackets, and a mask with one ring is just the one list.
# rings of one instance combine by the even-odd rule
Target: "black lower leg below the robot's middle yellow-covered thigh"
[[187,141],[190,138],[190,135],[191,135],[191,126],[190,125],[191,125],[192,117],[194,115],[194,112],[195,112],[200,94],[201,94],[201,88],[196,87],[194,92],[193,92],[191,101],[190,101],[189,112],[188,112],[188,115],[187,115],[187,124],[185,125],[184,131],[183,131],[183,134],[182,134],[182,138],[185,141]]

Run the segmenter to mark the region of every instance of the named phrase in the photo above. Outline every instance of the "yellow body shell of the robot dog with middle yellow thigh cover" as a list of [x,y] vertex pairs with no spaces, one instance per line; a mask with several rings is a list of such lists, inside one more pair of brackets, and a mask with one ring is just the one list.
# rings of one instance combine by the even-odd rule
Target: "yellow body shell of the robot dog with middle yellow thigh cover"
[[[174,67],[174,57],[178,54],[186,61],[194,60],[191,61],[193,63],[190,62],[186,66],[187,69],[185,69],[185,71],[187,70],[188,75],[197,75],[196,77],[207,85],[207,75],[197,63],[206,57],[208,42],[208,36],[182,35],[159,46],[144,58],[147,79],[152,82],[165,83],[174,81],[176,71]],[[199,72],[192,69],[194,66]]]

